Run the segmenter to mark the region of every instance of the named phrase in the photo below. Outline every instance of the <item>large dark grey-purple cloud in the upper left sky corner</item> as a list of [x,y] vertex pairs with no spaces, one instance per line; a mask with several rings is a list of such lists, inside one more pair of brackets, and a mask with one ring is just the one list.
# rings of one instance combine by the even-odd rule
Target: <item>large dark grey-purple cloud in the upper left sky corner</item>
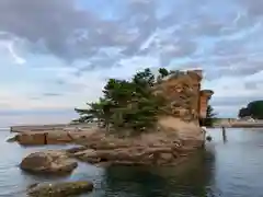
[[[76,3],[75,0],[3,0],[0,28],[33,44],[42,40],[47,50],[67,60],[91,57],[101,47],[126,46],[129,50],[127,45],[138,42],[136,32],[124,28],[118,22],[102,20],[91,11],[79,10]],[[148,3],[145,9],[142,4],[130,3],[126,19],[146,11]]]

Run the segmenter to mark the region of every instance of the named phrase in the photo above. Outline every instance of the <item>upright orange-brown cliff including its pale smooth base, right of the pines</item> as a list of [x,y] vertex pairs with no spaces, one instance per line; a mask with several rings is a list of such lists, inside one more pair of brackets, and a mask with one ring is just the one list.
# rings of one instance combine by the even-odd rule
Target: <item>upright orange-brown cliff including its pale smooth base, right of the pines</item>
[[156,85],[156,94],[165,96],[167,116],[159,118],[162,128],[176,131],[182,140],[204,140],[199,119],[206,117],[213,91],[201,90],[202,70],[179,71]]

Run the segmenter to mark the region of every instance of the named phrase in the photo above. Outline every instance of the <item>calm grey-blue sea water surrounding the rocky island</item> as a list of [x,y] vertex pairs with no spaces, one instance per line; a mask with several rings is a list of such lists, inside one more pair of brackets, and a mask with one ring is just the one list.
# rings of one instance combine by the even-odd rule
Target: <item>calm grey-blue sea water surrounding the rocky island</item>
[[[80,163],[68,179],[95,184],[89,197],[263,197],[263,129],[210,129],[213,141],[178,167],[99,169]],[[21,148],[7,143],[7,129],[0,130],[0,196],[23,197],[24,189],[39,182],[56,182],[22,173],[18,164],[27,153],[47,149]],[[48,147],[48,149],[61,147]],[[66,148],[66,147],[64,147]]]

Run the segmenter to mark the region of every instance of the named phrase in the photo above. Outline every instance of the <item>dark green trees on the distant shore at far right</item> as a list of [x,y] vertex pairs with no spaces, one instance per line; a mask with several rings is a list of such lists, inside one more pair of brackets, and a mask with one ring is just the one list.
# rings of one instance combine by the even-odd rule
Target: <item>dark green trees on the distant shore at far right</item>
[[240,118],[251,116],[254,119],[263,119],[263,101],[253,101],[239,111]]

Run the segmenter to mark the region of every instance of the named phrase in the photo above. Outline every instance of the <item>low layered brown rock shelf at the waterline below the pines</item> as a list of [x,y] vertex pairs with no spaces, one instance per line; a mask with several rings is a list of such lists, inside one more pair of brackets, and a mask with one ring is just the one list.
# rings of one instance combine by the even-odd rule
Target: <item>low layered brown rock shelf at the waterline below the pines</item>
[[67,152],[72,158],[92,164],[173,165],[179,158],[202,147],[202,130],[198,126],[192,126],[192,129],[185,136],[173,128],[173,131],[162,129],[133,138],[117,138],[98,132],[89,139],[77,141],[83,147],[69,149]]

